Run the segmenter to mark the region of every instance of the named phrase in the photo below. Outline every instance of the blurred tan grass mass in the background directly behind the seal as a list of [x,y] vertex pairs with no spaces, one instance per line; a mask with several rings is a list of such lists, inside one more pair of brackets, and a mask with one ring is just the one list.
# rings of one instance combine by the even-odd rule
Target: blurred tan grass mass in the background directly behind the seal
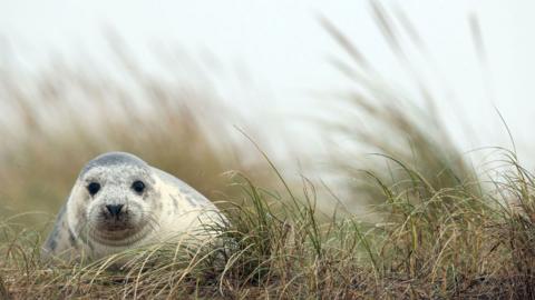
[[133,152],[213,200],[232,193],[227,170],[263,180],[256,157],[236,139],[233,126],[244,120],[211,87],[150,74],[113,44],[123,78],[60,62],[37,76],[3,70],[0,214],[55,213],[84,163],[105,151]]

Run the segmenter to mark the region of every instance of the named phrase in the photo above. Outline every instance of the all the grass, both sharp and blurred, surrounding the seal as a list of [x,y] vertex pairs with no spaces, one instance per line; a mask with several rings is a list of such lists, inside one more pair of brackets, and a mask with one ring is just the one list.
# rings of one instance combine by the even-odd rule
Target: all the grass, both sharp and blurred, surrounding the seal
[[[373,12],[402,53],[390,17]],[[130,64],[135,90],[64,67],[26,81],[6,73],[2,104],[25,134],[1,131],[0,213],[10,217],[0,222],[0,298],[535,299],[535,176],[505,149],[493,149],[498,167],[473,167],[431,106],[403,102],[325,26],[352,58],[338,66],[359,86],[341,97],[348,118],[324,123],[349,143],[329,158],[340,187],[289,181],[256,139],[252,156],[233,138],[225,120],[240,116]],[[374,154],[360,159],[352,150],[362,146]],[[195,249],[156,244],[47,266],[39,247],[51,216],[19,213],[55,213],[81,164],[107,150],[132,151],[225,200],[230,226]],[[321,211],[327,201],[335,209]],[[371,218],[354,212],[363,202]]]

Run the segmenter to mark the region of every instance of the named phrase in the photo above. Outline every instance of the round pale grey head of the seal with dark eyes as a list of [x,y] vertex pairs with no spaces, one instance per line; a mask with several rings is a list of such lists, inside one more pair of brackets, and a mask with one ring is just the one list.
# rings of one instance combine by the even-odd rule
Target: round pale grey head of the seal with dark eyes
[[72,230],[86,241],[128,246],[154,229],[158,199],[150,167],[135,156],[111,152],[89,161],[78,176],[69,207]]

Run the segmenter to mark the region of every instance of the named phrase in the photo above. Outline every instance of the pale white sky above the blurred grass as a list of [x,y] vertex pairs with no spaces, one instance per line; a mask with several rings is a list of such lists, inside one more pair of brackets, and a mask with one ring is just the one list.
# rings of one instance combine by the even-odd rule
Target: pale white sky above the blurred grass
[[[383,3],[402,8],[420,31],[436,66],[418,59],[415,64],[426,81],[437,87],[444,118],[454,120],[448,126],[461,149],[507,144],[496,106],[512,128],[521,153],[534,162],[529,152],[535,150],[535,1]],[[480,67],[474,50],[468,26],[471,12],[480,21],[490,73]],[[350,87],[327,60],[329,56],[347,57],[320,26],[318,14],[346,32],[385,78],[408,94],[415,92],[374,24],[368,1],[0,0],[0,36],[4,39],[0,58],[14,58],[33,68],[60,52],[72,60],[89,54],[106,63],[103,32],[111,28],[125,38],[142,63],[154,63],[146,59],[154,48],[178,46],[201,59],[213,54],[227,70],[217,79],[223,94],[230,94],[236,107],[252,114],[269,116],[273,124],[286,124],[289,120],[294,123],[294,114],[304,107],[328,108],[328,101],[312,99],[311,91]],[[240,92],[241,79],[236,78],[245,71],[252,77],[252,91]],[[477,137],[460,138],[458,114]],[[303,126],[293,126],[303,130]],[[307,130],[301,141],[314,134],[314,130]]]

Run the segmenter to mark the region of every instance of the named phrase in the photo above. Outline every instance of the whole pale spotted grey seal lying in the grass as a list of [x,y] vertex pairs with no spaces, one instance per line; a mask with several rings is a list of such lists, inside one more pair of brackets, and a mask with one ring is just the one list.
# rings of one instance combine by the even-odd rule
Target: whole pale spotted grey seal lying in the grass
[[150,243],[203,240],[224,223],[185,182],[133,154],[108,152],[80,171],[42,249],[45,256],[98,259]]

